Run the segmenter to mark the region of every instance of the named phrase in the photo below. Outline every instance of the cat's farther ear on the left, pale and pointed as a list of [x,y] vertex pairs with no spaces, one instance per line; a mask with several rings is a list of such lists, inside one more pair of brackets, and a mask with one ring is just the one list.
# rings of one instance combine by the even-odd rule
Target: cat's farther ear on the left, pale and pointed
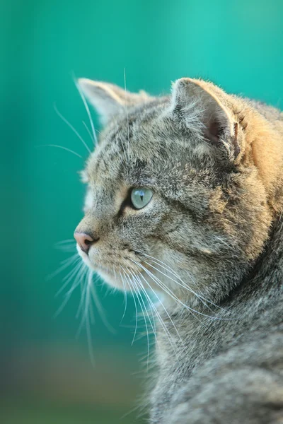
[[115,84],[92,81],[87,78],[79,78],[78,84],[79,90],[96,108],[102,124],[107,124],[112,117],[125,112],[127,107],[149,99],[144,91],[138,94],[129,93]]

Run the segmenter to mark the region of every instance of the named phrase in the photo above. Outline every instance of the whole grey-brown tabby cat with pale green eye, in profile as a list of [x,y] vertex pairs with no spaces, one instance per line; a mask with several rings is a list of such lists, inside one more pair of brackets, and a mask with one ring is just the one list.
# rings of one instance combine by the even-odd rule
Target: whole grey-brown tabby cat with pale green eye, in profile
[[105,128],[74,235],[104,281],[156,296],[149,422],[283,423],[283,113],[191,78],[79,86]]

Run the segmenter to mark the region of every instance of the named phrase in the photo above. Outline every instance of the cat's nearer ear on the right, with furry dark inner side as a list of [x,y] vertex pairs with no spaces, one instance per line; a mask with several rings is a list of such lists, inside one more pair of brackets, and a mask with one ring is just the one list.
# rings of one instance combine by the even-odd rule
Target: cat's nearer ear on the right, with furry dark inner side
[[228,97],[212,83],[180,78],[173,85],[173,112],[179,114],[192,131],[201,131],[212,145],[224,144],[236,158],[240,153],[238,123],[229,110]]

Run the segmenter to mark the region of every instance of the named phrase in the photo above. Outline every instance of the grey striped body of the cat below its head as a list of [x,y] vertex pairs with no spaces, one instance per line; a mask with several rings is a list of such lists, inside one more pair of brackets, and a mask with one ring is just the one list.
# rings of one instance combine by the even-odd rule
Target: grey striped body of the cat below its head
[[241,287],[220,303],[223,309],[211,307],[214,321],[181,309],[172,313],[183,343],[175,336],[180,358],[173,362],[166,336],[159,342],[167,354],[157,350],[151,423],[282,422],[282,220],[275,226]]

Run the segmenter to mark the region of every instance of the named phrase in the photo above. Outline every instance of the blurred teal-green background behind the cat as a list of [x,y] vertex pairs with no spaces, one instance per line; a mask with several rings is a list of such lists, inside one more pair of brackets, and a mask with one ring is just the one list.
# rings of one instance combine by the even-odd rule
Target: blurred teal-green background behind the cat
[[146,339],[131,346],[132,301],[120,324],[122,294],[98,286],[116,332],[95,311],[93,367],[86,331],[76,338],[79,289],[54,318],[71,267],[46,278],[82,216],[87,152],[53,107],[91,146],[73,73],[123,86],[126,69],[129,90],[155,94],[209,78],[282,107],[282,22],[282,0],[1,1],[1,423],[139,422]]

